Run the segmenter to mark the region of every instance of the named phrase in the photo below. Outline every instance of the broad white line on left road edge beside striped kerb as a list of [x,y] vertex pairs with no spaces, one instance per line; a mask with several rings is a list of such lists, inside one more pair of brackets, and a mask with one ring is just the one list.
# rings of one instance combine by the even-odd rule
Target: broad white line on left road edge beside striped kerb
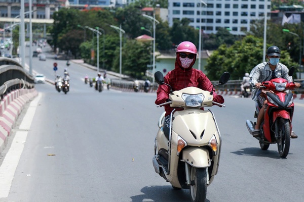
[[[19,129],[30,129],[30,125],[40,98],[41,93],[39,93],[38,96],[32,100]],[[16,132],[12,145],[6,154],[2,165],[0,166],[0,198],[7,198],[9,196],[12,181],[24,148],[27,133],[27,131]]]

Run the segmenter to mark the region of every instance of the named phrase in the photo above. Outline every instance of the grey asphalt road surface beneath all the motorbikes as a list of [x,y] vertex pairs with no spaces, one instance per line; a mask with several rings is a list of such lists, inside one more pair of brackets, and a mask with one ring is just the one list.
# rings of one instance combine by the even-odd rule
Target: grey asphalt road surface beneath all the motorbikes
[[[33,64],[34,71],[54,78],[52,59],[34,58]],[[60,68],[65,61],[58,64]],[[36,111],[9,195],[0,202],[190,201],[188,190],[173,190],[152,165],[157,122],[163,112],[154,104],[156,94],[99,93],[83,82],[86,74],[93,76],[95,71],[75,64],[68,69],[67,94],[51,84],[36,85],[40,93]],[[222,150],[206,201],[304,201],[304,100],[295,100],[293,130],[299,138],[291,140],[289,155],[280,159],[275,144],[263,151],[247,131],[246,119],[254,121],[254,102],[224,98],[226,108],[211,108],[221,131]]]

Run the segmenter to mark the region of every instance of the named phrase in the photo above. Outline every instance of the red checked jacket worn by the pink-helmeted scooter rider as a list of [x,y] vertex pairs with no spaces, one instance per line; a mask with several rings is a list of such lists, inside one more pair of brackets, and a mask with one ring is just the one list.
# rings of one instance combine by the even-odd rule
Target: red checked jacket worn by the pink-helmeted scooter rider
[[[203,90],[212,90],[212,83],[208,77],[200,70],[193,69],[192,67],[184,69],[175,62],[175,69],[168,72],[164,78],[165,83],[171,85],[172,90],[181,90],[186,87],[194,86]],[[169,98],[170,87],[167,85],[159,85],[157,89],[157,98],[155,104],[160,105],[166,102]],[[217,103],[224,103],[224,98],[221,95],[215,93],[213,89],[213,101]],[[174,108],[170,105],[165,105],[166,115],[170,115]],[[178,108],[176,110],[183,110]]]

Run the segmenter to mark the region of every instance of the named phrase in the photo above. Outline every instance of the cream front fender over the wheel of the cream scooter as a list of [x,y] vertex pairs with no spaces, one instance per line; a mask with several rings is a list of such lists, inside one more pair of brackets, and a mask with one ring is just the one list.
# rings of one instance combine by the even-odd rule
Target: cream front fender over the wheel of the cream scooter
[[181,161],[196,168],[207,168],[211,165],[209,151],[204,147],[193,146],[183,149]]

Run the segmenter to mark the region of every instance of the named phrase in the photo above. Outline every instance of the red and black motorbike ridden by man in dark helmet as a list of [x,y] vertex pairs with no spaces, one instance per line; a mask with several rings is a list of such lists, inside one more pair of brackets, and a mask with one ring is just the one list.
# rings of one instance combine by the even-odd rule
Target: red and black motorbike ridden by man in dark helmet
[[[293,72],[294,68],[291,67],[288,75],[292,76]],[[267,98],[267,104],[265,104],[264,120],[260,126],[260,136],[255,138],[259,140],[262,150],[267,150],[270,144],[277,144],[280,157],[285,158],[290,146],[291,121],[294,112],[291,90],[295,89],[295,84],[294,82],[288,83],[283,78],[274,78],[262,82],[260,88],[262,88],[261,95]],[[257,104],[254,118],[257,118],[260,108],[261,106]],[[250,134],[252,134],[255,124],[250,120],[246,121]]]

